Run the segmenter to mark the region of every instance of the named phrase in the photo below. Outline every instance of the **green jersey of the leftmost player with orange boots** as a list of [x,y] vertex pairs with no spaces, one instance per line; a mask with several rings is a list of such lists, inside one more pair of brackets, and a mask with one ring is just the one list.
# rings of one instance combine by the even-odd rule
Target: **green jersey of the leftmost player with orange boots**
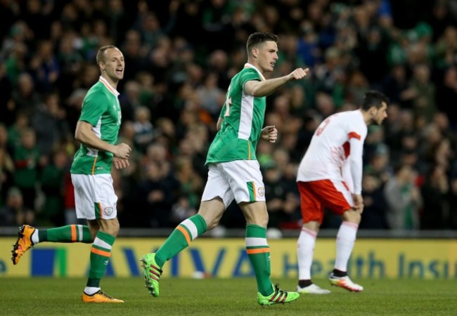
[[[115,145],[121,124],[121,108],[117,99],[119,93],[103,77],[92,86],[82,103],[79,121],[90,123],[96,136],[106,143]],[[110,173],[112,153],[102,152],[81,144],[75,154],[71,173]]]

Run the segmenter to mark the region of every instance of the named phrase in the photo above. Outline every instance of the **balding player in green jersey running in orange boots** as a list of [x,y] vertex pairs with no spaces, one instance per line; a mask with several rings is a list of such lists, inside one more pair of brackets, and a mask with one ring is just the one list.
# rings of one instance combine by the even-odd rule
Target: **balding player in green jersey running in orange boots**
[[75,154],[71,173],[75,186],[78,218],[88,225],[67,225],[38,230],[29,225],[20,228],[13,246],[13,263],[39,242],[84,242],[92,244],[89,279],[82,293],[84,303],[124,303],[100,289],[100,280],[110,259],[112,245],[119,232],[117,196],[112,186],[111,166],[129,166],[131,148],[116,145],[121,124],[121,109],[117,83],[124,77],[124,55],[115,46],[103,46],[96,57],[100,79],[87,92],[76,126],[75,138],[81,146]]

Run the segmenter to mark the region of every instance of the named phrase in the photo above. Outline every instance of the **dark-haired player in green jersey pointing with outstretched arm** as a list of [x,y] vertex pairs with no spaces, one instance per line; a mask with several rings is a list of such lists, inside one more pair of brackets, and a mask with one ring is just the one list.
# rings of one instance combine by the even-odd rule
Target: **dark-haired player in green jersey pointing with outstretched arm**
[[246,251],[257,279],[260,305],[288,303],[299,294],[273,286],[270,279],[270,248],[266,242],[265,190],[255,150],[260,138],[274,143],[275,126],[264,124],[266,96],[289,81],[306,77],[298,68],[284,77],[266,79],[278,60],[278,37],[257,32],[247,39],[247,63],[228,87],[217,121],[218,133],[207,154],[208,180],[200,210],[179,224],[160,249],[141,258],[146,287],[159,296],[159,279],[167,260],[185,249],[193,239],[214,228],[233,200],[246,218]]

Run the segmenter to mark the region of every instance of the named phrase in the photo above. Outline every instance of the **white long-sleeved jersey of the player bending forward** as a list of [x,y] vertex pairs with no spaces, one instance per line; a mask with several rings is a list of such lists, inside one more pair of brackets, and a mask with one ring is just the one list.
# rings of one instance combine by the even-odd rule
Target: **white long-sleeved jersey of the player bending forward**
[[298,168],[297,181],[345,180],[361,194],[363,142],[368,132],[361,110],[327,117],[314,132]]

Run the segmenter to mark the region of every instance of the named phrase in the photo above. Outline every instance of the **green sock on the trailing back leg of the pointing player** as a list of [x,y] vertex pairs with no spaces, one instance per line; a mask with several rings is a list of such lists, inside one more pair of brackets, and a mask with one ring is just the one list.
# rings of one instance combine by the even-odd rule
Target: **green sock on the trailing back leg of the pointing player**
[[176,226],[172,234],[162,244],[159,250],[155,253],[155,263],[160,268],[169,260],[179,254],[179,251],[185,249],[193,239],[202,235],[207,230],[205,219],[201,215],[196,214],[184,220]]

